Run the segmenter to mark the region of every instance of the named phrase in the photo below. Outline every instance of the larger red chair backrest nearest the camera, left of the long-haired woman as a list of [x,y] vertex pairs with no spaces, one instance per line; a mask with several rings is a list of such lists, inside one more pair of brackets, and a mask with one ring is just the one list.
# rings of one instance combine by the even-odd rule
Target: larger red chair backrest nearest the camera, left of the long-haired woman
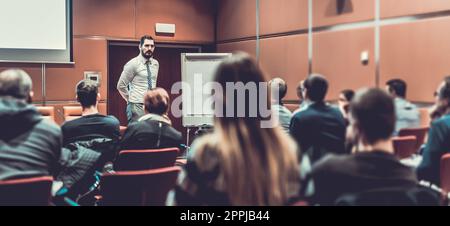
[[164,206],[168,192],[175,187],[179,167],[103,174],[100,179],[100,205]]

